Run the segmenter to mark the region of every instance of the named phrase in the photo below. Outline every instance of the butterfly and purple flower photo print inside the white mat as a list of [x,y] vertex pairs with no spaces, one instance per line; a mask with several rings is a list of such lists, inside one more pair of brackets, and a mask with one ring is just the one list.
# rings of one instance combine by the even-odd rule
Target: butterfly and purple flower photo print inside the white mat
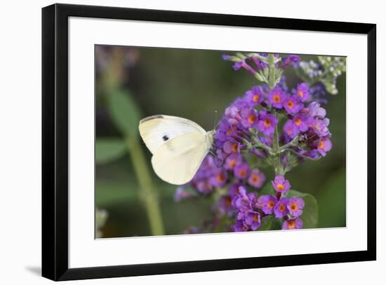
[[345,227],[345,71],[95,45],[95,237]]

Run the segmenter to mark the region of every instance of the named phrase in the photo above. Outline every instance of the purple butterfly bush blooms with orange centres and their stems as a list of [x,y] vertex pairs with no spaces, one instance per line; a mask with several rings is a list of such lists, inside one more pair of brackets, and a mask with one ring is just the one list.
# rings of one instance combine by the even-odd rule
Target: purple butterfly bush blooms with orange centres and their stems
[[[237,53],[222,59],[233,62],[234,70],[253,75],[260,85],[227,106],[215,130],[212,154],[189,183],[196,195],[185,186],[178,188],[175,200],[213,195],[211,226],[219,231],[275,228],[267,228],[267,221],[283,230],[302,228],[305,201],[293,195],[286,173],[306,160],[323,158],[333,147],[330,120],[320,98],[331,72],[343,71],[331,71],[335,65],[341,67],[340,61],[326,58],[319,65],[307,65],[297,55],[264,53]],[[308,78],[319,80],[302,81],[289,89],[282,75],[288,67],[303,69]],[[272,181],[266,183],[262,167],[274,169]]]

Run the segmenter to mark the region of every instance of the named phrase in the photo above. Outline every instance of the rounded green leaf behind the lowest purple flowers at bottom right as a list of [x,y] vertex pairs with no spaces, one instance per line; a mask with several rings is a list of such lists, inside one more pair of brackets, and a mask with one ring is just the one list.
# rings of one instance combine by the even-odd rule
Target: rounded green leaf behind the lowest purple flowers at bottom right
[[296,190],[289,190],[287,197],[298,196],[302,197],[305,201],[305,207],[303,208],[303,214],[300,218],[303,221],[303,228],[317,228],[319,207],[317,199],[308,193],[302,193]]

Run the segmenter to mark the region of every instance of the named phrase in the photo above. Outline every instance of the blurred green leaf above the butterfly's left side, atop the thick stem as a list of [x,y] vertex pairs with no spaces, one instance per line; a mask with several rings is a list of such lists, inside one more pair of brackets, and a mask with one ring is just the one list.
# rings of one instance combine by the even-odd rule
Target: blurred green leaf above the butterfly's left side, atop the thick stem
[[142,116],[130,92],[115,90],[107,94],[107,100],[112,120],[122,134],[137,136],[138,124]]

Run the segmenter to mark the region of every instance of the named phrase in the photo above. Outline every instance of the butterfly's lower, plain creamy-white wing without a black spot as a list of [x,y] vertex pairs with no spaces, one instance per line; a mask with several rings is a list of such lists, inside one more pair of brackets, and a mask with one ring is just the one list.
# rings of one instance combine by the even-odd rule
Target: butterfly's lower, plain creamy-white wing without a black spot
[[208,154],[207,140],[206,134],[192,132],[164,142],[152,157],[154,172],[175,185],[191,181]]

